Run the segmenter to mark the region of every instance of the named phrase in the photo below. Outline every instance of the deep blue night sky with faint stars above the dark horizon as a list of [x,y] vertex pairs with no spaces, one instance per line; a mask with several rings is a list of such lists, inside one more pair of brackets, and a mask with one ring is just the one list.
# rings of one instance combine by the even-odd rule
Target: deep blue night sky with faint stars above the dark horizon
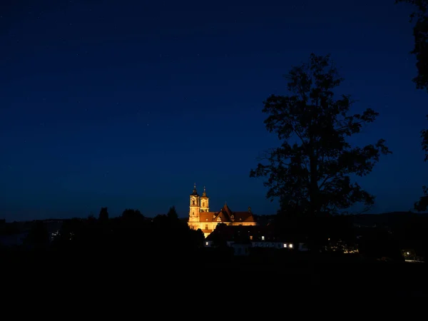
[[[391,156],[358,180],[372,212],[409,210],[428,183],[419,131],[411,7],[394,0],[6,1],[0,7],[0,217],[188,215],[193,183],[210,209],[275,213],[249,178],[263,100],[309,54],[332,54],[340,91],[378,120],[355,142]],[[12,3],[15,3],[13,6]],[[19,3],[20,5],[16,4]]]

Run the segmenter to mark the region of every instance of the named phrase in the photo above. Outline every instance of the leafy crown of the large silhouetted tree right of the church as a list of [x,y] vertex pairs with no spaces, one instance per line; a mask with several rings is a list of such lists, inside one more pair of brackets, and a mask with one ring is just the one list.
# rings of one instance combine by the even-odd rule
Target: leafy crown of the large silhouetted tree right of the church
[[276,133],[280,147],[265,153],[250,177],[267,178],[267,198],[280,198],[282,210],[315,215],[374,203],[374,196],[352,183],[350,175],[372,171],[381,154],[390,153],[384,140],[352,147],[347,138],[360,133],[378,113],[368,108],[350,114],[349,95],[335,99],[343,79],[330,55],[310,55],[286,76],[289,96],[271,95],[264,102],[265,126]]

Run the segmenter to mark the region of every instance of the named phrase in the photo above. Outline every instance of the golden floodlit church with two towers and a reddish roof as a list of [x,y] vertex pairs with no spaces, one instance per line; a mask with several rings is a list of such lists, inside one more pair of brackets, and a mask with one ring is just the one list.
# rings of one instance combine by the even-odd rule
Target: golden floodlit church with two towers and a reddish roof
[[233,212],[225,204],[219,212],[210,212],[210,199],[207,196],[205,187],[203,188],[202,196],[199,196],[195,184],[193,193],[190,194],[188,225],[194,230],[200,228],[206,238],[219,223],[225,223],[226,225],[257,225],[250,207],[247,212]]

